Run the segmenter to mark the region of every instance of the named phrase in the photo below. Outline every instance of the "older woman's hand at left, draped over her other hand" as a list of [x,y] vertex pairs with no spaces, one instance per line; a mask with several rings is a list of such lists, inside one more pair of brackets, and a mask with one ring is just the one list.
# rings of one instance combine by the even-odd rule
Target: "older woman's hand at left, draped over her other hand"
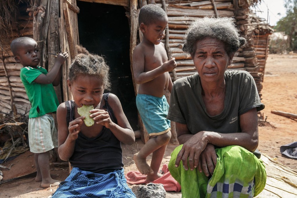
[[[183,147],[177,154],[175,166],[178,167],[180,161],[182,161],[185,170],[188,170],[188,168],[191,170],[197,168],[200,154],[207,144],[206,131],[200,131],[193,135],[187,140],[187,142],[184,143]],[[188,167],[188,158],[190,167]]]

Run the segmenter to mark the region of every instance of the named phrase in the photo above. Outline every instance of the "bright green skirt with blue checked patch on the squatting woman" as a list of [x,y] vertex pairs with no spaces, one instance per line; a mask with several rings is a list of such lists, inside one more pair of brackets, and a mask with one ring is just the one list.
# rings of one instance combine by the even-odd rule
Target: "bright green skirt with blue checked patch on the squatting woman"
[[217,165],[209,179],[198,169],[187,171],[182,162],[175,167],[176,156],[182,145],[171,153],[168,169],[181,185],[184,198],[194,197],[254,197],[266,184],[266,171],[263,161],[240,146],[216,149]]

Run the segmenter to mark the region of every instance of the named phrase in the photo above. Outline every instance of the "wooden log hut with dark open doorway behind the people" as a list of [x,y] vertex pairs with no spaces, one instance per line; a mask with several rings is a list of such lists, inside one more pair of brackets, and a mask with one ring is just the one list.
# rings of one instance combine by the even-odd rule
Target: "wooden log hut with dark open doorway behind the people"
[[[71,99],[67,89],[68,67],[75,56],[75,45],[82,44],[90,52],[103,54],[111,67],[112,90],[121,100],[123,110],[134,131],[141,131],[143,142],[149,139],[135,105],[138,85],[132,75],[132,54],[135,46],[142,40],[138,31],[138,13],[143,5],[154,3],[162,7],[168,15],[168,29],[165,43],[168,57],[175,57],[177,67],[170,75],[174,80],[196,73],[189,54],[182,52],[184,34],[193,20],[208,16],[234,17],[238,28],[249,41],[256,34],[250,34],[252,21],[249,7],[258,0],[36,0],[17,1],[18,17],[12,23],[12,31],[7,38],[28,36],[39,43],[42,51],[40,65],[50,70],[59,51],[67,51],[70,56],[63,65],[61,86],[56,88],[60,102]],[[265,25],[263,25],[265,26]],[[260,41],[260,37],[257,37]],[[238,50],[228,70],[247,70],[262,87],[259,62],[260,51],[267,45],[249,45]],[[0,56],[0,111],[10,113],[14,106],[19,114],[27,113],[30,103],[20,81],[22,67],[14,62],[9,45],[1,45]],[[267,56],[266,56],[267,57]],[[261,65],[265,67],[265,62]],[[168,95],[169,98],[169,95]],[[173,138],[174,123],[173,123]],[[173,141],[176,141],[173,140]]]

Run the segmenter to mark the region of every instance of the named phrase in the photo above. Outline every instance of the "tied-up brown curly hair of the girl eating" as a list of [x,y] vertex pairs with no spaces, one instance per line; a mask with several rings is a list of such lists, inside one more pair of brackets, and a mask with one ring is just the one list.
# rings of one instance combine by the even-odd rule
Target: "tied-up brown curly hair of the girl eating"
[[97,54],[89,53],[86,48],[80,45],[77,45],[76,48],[78,54],[69,67],[68,78],[70,82],[73,82],[80,74],[96,76],[102,81],[104,89],[110,90],[110,68],[105,63],[104,58]]

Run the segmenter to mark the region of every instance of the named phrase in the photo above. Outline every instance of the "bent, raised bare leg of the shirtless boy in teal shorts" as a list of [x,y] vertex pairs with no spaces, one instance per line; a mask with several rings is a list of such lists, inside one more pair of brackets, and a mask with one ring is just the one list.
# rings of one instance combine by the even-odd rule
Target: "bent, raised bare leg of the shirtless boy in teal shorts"
[[[151,175],[154,174],[154,170],[146,163],[146,157],[153,153],[154,151],[158,150],[163,145],[167,145],[168,141],[170,140],[171,132],[164,133],[149,139],[146,144],[142,147],[142,149],[134,154],[134,161],[135,164],[143,175]],[[166,147],[165,147],[166,149]],[[165,150],[164,150],[165,152]],[[164,155],[164,153],[163,153]],[[163,158],[162,155],[162,158]],[[162,161],[162,159],[161,159]],[[161,162],[160,162],[161,163]],[[158,168],[159,169],[159,168]],[[158,172],[158,170],[157,170]]]

